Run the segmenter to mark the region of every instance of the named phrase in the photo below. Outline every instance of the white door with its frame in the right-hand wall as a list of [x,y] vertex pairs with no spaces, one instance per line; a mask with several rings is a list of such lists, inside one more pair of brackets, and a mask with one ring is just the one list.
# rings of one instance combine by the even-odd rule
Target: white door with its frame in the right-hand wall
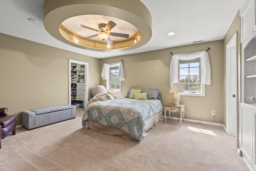
[[[231,53],[231,49],[232,52],[234,52],[234,56]],[[233,135],[232,132],[235,131],[235,137],[236,137],[236,146],[238,147],[238,101],[237,101],[237,94],[238,94],[238,89],[237,89],[237,32],[234,34],[234,36],[230,39],[230,41],[228,42],[228,44],[226,45],[226,125],[227,125],[227,134],[229,135]],[[234,60],[232,63],[234,66],[231,66],[231,60]],[[232,68],[232,72],[234,74],[234,82],[236,83],[235,85],[231,85],[230,82],[228,81],[228,77],[230,76],[230,68]],[[233,70],[234,69],[234,70]],[[229,87],[233,86],[234,92],[229,92],[228,89]],[[235,95],[235,102],[231,104],[232,107],[234,107],[234,115],[230,115],[230,113],[228,112],[228,100],[231,97],[231,95]],[[232,120],[235,120],[235,127],[232,127]],[[235,129],[235,130],[230,130],[230,129]]]

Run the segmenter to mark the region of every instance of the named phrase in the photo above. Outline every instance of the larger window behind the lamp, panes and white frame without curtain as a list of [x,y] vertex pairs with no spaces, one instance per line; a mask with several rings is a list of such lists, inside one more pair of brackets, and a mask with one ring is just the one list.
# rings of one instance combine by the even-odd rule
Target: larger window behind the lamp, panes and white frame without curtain
[[179,60],[179,81],[184,90],[180,95],[205,96],[200,68],[200,58]]

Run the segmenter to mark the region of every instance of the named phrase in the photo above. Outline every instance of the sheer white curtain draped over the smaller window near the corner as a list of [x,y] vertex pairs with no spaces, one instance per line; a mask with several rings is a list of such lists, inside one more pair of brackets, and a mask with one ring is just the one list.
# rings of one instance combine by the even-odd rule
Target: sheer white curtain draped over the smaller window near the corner
[[110,67],[117,67],[118,66],[118,75],[117,77],[120,78],[120,81],[124,81],[124,66],[122,62],[117,62],[114,64],[103,64],[103,68],[102,68],[102,79],[103,80],[107,80],[109,78],[109,74],[110,74]]

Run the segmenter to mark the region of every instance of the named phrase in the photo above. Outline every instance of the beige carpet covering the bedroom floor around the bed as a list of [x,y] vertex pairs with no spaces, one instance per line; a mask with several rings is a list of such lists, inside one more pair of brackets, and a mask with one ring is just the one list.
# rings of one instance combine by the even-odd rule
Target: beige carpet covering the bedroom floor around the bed
[[2,139],[0,171],[249,171],[222,127],[167,119],[134,143],[75,119]]

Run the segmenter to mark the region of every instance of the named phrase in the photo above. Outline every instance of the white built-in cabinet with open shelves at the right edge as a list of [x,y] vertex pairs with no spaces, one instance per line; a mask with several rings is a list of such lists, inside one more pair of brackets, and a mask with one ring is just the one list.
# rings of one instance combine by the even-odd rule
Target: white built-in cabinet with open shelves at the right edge
[[239,149],[251,170],[256,171],[256,0],[245,0],[240,8],[241,25],[241,104]]

